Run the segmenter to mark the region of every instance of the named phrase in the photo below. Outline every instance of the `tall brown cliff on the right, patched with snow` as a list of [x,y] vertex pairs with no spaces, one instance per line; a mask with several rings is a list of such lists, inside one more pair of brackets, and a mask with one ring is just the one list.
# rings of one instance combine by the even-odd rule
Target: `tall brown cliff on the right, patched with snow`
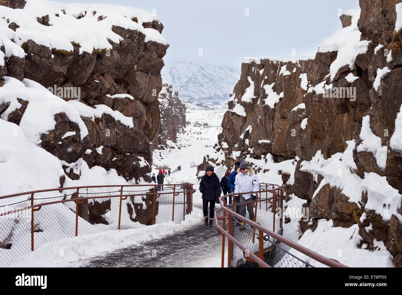
[[375,240],[383,241],[401,267],[397,2],[361,0],[359,21],[353,11],[341,16],[344,28],[334,36],[343,36],[342,44],[326,39],[310,59],[243,59],[215,149],[225,153],[227,167],[247,155],[295,158],[294,182],[282,177],[287,195],[306,199],[310,208],[313,225],[301,230],[314,230],[322,218],[334,226],[359,224],[359,246],[374,250]]

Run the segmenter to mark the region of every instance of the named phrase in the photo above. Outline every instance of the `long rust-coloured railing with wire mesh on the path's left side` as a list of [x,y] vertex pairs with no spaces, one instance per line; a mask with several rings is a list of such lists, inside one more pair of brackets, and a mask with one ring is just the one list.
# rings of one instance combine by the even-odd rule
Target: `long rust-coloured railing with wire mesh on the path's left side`
[[[115,191],[115,192],[86,192],[86,193],[80,193],[80,189],[81,191],[86,189],[86,191],[88,191],[88,189],[91,189],[92,191],[96,191],[97,189],[105,189],[105,188],[113,188],[113,187],[119,187],[119,191]],[[159,190],[158,191],[158,187],[165,187],[164,191]],[[145,191],[124,191],[123,189],[140,189],[140,188],[146,188],[147,190]],[[149,189],[150,188],[150,189]],[[68,191],[74,191],[74,193],[69,194],[68,196],[71,196],[70,199],[66,199],[67,194],[64,195],[59,195],[58,197],[54,197],[54,196],[48,196],[48,197],[38,197],[35,198],[35,194],[39,194],[39,193],[50,193],[52,194],[53,192],[57,192],[57,191],[64,191],[64,192],[68,192]],[[180,222],[180,220],[185,220],[185,215],[186,215],[186,205],[187,205],[187,214],[191,214],[193,208],[193,193],[195,192],[195,189],[193,189],[193,184],[192,183],[182,183],[182,184],[169,184],[169,185],[163,185],[163,184],[152,184],[152,185],[92,185],[92,186],[80,186],[80,187],[63,187],[63,188],[55,188],[55,189],[42,189],[42,190],[36,190],[36,191],[29,191],[29,192],[23,192],[23,193],[15,193],[12,195],[5,195],[5,196],[0,196],[0,201],[2,204],[5,203],[5,205],[1,205],[0,206],[0,262],[2,260],[2,263],[0,263],[0,265],[2,266],[6,266],[6,262],[8,260],[8,262],[12,262],[13,258],[16,257],[12,257],[12,256],[7,256],[7,251],[4,251],[3,249],[6,250],[10,250],[13,247],[19,247],[18,249],[18,254],[21,255],[21,253],[26,252],[23,248],[26,247],[26,244],[18,244],[18,242],[16,242],[17,240],[25,240],[27,241],[26,238],[21,237],[21,236],[17,236],[16,232],[20,233],[23,231],[15,231],[14,230],[14,226],[15,224],[18,224],[19,219],[21,219],[21,216],[17,216],[15,217],[16,214],[21,214],[24,213],[25,219],[27,219],[27,212],[30,211],[30,226],[31,226],[31,230],[30,230],[30,240],[31,240],[31,251],[34,250],[34,233],[35,232],[41,232],[41,229],[36,228],[37,225],[35,225],[35,220],[34,220],[34,212],[38,212],[39,210],[41,210],[42,208],[50,208],[50,210],[45,210],[46,212],[44,214],[48,214],[49,212],[53,212],[53,216],[46,216],[47,219],[41,219],[41,220],[47,220],[47,221],[52,221],[52,222],[60,222],[57,221],[57,218],[59,216],[55,216],[55,214],[57,214],[58,210],[65,210],[66,207],[57,207],[55,208],[54,206],[68,206],[68,209],[70,209],[71,211],[74,212],[73,208],[75,207],[75,236],[78,236],[78,225],[80,224],[80,222],[82,222],[83,218],[81,218],[79,211],[80,211],[80,205],[82,206],[82,204],[84,204],[85,201],[91,200],[94,202],[96,202],[97,200],[101,200],[101,199],[110,199],[110,210],[106,210],[106,212],[110,212],[112,210],[112,199],[113,198],[117,198],[119,197],[119,208],[118,208],[118,217],[115,216],[116,218],[113,220],[118,220],[117,222],[117,230],[121,229],[121,220],[122,220],[122,205],[123,205],[123,201],[127,199],[127,197],[131,197],[132,200],[135,200],[135,197],[137,196],[141,196],[142,197],[142,202],[144,203],[144,198],[146,201],[147,197],[151,197],[152,198],[152,223],[151,224],[155,224],[156,221],[156,217],[158,217],[160,220],[158,220],[158,222],[168,222],[168,221],[173,221],[173,222]],[[117,195],[112,195],[112,193],[118,193]],[[81,196],[80,196],[81,194]],[[23,199],[24,195],[29,195],[29,197],[27,197],[27,199]],[[83,197],[82,195],[88,195],[87,197]],[[20,197],[17,202],[14,202],[15,197]],[[63,199],[61,199],[63,198]],[[5,201],[5,200],[10,200],[10,201]],[[52,200],[52,199],[57,199],[57,200]],[[186,201],[187,199],[187,201]],[[34,202],[35,201],[35,202]],[[27,203],[29,202],[29,203]],[[69,206],[68,204],[70,204],[71,202],[75,203],[74,207]],[[127,204],[130,204],[129,201],[126,201]],[[132,204],[134,203],[134,201],[131,202]],[[183,218],[181,217],[181,214],[177,214],[178,212],[176,212],[175,214],[175,205],[181,205],[183,203]],[[163,214],[161,213],[161,209],[160,207],[163,206],[164,207],[164,212]],[[51,210],[51,208],[53,208],[53,211]],[[63,209],[64,208],[64,209]],[[128,208],[128,206],[127,206]],[[171,209],[170,209],[171,208]],[[6,210],[4,210],[6,209]],[[11,210],[10,210],[11,209]],[[139,205],[139,209],[141,210],[146,210],[146,208],[143,208],[143,204]],[[127,209],[128,210],[128,209]],[[134,210],[134,209],[132,209]],[[158,210],[158,212],[157,212]],[[168,213],[167,211],[172,210],[171,214]],[[116,211],[116,210],[115,210]],[[166,211],[166,212],[165,212]],[[176,210],[177,211],[177,210]],[[54,213],[56,212],[56,213]],[[117,211],[116,211],[117,212]],[[85,213],[85,212],[84,212]],[[159,213],[159,216],[158,216]],[[86,212],[85,214],[88,214],[88,212]],[[84,215],[85,215],[84,214]],[[144,223],[138,223],[133,222],[133,218],[131,218],[131,215],[129,216],[130,213],[128,214],[124,214],[125,217],[125,228],[127,228],[127,223],[129,223],[128,220],[131,220],[131,224],[132,227],[131,228],[135,228],[135,227],[139,227],[139,226],[144,226],[147,225],[145,224],[145,221],[143,221]],[[161,216],[162,215],[162,216]],[[175,220],[175,215],[176,215],[176,220]],[[137,218],[137,214],[136,214],[136,218]],[[171,218],[167,217],[167,216],[171,216]],[[178,217],[180,216],[180,217]],[[178,220],[180,218],[180,220]],[[97,224],[98,222],[92,223],[88,221],[88,227],[90,227],[93,224]],[[42,221],[43,222],[43,221]],[[102,222],[100,222],[102,223]],[[71,224],[71,223],[70,223]],[[85,224],[85,223],[84,223]],[[103,222],[103,224],[107,224],[109,225],[107,222]],[[46,227],[45,224],[41,224],[42,227]],[[113,228],[107,228],[106,230],[110,230]],[[64,230],[64,227],[63,227]],[[10,231],[10,233],[8,233]],[[85,233],[88,233],[88,230],[83,229],[82,230]],[[101,230],[100,230],[101,231]],[[99,230],[94,230],[93,232],[99,232]],[[89,232],[91,233],[91,232]],[[11,237],[11,238],[1,238],[1,237]],[[45,240],[52,240],[55,241],[52,238],[47,237]],[[12,240],[12,242],[8,242],[6,243],[8,240]],[[57,240],[57,239],[56,239]],[[38,245],[37,245],[38,246]],[[13,251],[11,251],[13,252]],[[14,251],[15,252],[15,251]],[[5,256],[5,257],[2,257]],[[5,265],[3,265],[5,264]]]

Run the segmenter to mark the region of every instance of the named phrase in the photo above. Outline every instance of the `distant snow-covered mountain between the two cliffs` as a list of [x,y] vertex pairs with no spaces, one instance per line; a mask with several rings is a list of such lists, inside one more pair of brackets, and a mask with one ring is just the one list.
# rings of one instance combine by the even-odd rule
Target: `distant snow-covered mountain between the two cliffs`
[[240,77],[240,68],[224,65],[167,63],[162,81],[178,90],[182,100],[226,103]]

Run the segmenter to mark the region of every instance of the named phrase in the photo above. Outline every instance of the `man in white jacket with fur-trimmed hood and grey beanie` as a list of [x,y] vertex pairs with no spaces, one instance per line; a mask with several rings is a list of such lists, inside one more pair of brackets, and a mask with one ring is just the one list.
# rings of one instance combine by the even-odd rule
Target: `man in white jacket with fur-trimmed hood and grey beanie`
[[[254,201],[256,196],[247,192],[260,190],[260,182],[258,181],[258,177],[254,174],[252,168],[247,166],[245,161],[240,162],[240,168],[238,169],[238,174],[234,180],[234,187],[234,193],[246,193],[240,195],[240,203]],[[254,221],[254,211],[250,204],[247,204],[247,211],[250,220]],[[246,216],[246,205],[240,205],[239,214],[244,217]],[[242,222],[242,224],[244,225],[244,222]],[[242,229],[244,230],[243,227],[241,230]]]

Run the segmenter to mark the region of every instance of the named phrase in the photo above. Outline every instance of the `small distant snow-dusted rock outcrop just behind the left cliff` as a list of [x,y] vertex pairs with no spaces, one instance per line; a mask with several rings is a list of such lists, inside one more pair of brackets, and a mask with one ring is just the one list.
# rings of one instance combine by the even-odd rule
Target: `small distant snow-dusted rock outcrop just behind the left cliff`
[[158,146],[167,147],[167,140],[177,142],[177,133],[183,133],[186,127],[186,105],[173,92],[172,85],[164,83],[158,97],[160,103],[160,126]]

